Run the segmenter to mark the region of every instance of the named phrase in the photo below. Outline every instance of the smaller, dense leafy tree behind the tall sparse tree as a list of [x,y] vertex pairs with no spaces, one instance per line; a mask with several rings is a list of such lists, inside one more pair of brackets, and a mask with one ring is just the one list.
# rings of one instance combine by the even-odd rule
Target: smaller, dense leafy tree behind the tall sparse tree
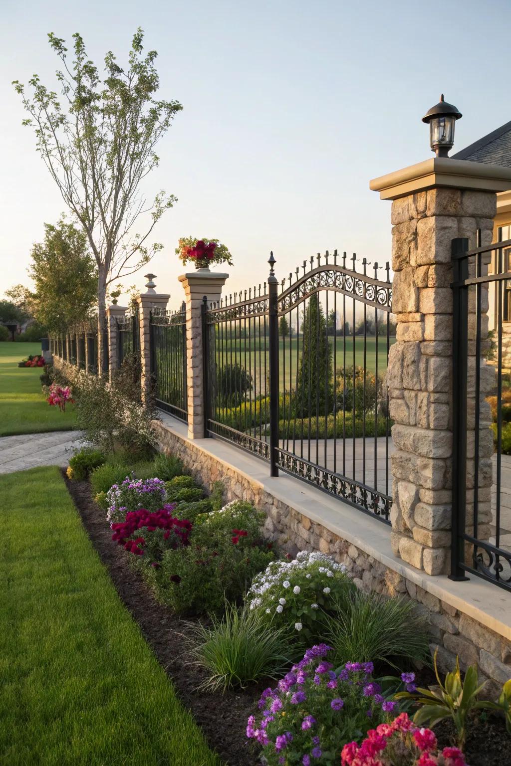
[[44,224],[44,241],[31,250],[28,275],[34,290],[17,285],[8,294],[51,332],[90,316],[96,303],[97,265],[87,234],[64,218]]

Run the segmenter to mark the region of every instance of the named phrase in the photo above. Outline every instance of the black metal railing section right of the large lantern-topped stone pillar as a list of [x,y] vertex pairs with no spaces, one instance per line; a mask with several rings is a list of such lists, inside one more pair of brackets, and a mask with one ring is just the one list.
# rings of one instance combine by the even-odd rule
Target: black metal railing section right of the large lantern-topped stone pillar
[[453,240],[450,577],[468,572],[511,590],[511,240],[481,247],[478,231],[468,246]]

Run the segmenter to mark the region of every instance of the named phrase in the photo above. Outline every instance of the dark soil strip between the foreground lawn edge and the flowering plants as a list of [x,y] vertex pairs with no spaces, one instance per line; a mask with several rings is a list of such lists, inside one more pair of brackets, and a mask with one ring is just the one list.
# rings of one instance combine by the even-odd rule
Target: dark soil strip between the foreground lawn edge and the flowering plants
[[139,624],[156,659],[172,679],[183,705],[192,710],[196,722],[204,732],[211,749],[229,766],[254,766],[258,764],[257,751],[245,736],[247,718],[254,712],[259,689],[231,691],[225,694],[198,692],[196,687],[205,679],[201,669],[190,668],[186,656],[187,639],[191,629],[185,620],[175,617],[158,604],[152,591],[139,573],[129,567],[128,554],[112,542],[112,533],[106,523],[105,513],[90,496],[86,481],[67,480],[67,489],[87,534],[93,542],[101,561],[110,572],[113,584],[121,600]]

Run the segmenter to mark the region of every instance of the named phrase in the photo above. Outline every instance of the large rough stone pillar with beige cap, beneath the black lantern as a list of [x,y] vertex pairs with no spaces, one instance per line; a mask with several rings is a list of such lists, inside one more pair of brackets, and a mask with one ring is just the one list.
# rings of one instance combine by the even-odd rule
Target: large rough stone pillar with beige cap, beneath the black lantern
[[[393,201],[392,311],[398,329],[387,371],[390,415],[395,423],[395,453],[391,457],[392,549],[408,564],[424,569],[428,575],[438,575],[448,571],[452,517],[451,242],[456,237],[467,237],[469,247],[476,247],[479,228],[482,244],[491,243],[495,192],[511,186],[511,169],[434,158],[376,178],[370,186],[380,192],[382,199]],[[472,341],[474,308],[475,296],[469,306]],[[487,295],[483,295],[483,337],[487,332],[487,309]],[[469,348],[470,352],[474,353],[473,348]],[[469,397],[475,375],[473,356],[471,362]],[[481,366],[486,368],[484,360]],[[490,376],[483,370],[481,373],[484,420]],[[473,404],[469,399],[469,411]],[[485,513],[488,520],[491,513],[493,441],[488,424],[481,422],[480,428],[480,519],[485,521]],[[471,438],[467,434],[470,461],[473,487],[473,433]],[[467,506],[467,522],[469,517]]]

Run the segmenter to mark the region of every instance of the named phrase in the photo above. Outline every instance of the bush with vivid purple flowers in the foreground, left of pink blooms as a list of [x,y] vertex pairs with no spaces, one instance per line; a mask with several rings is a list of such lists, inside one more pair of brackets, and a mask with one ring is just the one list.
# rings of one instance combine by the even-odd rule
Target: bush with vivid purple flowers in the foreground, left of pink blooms
[[342,745],[381,723],[398,703],[372,681],[372,663],[346,663],[339,673],[320,643],[306,650],[276,689],[265,689],[261,713],[251,715],[247,737],[262,745],[273,764],[338,764]]

